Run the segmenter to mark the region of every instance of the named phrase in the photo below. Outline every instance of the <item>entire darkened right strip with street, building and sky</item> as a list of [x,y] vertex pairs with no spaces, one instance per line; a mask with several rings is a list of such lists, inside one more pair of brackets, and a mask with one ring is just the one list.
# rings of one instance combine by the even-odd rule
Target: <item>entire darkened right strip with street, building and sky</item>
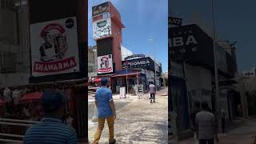
[[169,1],[169,143],[256,143],[255,4]]

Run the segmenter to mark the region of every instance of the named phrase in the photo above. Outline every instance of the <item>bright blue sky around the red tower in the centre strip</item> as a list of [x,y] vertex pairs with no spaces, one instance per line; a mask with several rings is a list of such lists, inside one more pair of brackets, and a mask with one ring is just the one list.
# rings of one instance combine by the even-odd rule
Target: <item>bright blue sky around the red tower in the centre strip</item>
[[[89,0],[89,46],[94,46],[92,33],[91,7],[106,0]],[[162,70],[168,69],[168,1],[167,0],[110,0],[118,9],[122,23],[122,45],[134,54],[154,55],[154,39],[156,59],[162,62]]]

